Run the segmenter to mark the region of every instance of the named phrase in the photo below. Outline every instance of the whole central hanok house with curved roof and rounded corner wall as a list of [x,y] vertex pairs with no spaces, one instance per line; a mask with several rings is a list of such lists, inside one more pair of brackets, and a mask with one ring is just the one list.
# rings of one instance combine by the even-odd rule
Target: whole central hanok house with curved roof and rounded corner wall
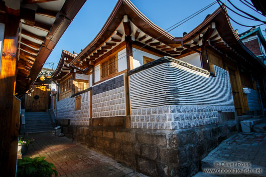
[[[234,113],[248,110],[241,77],[255,85],[265,70],[224,11],[175,38],[119,0],[94,40],[74,58],[62,56],[54,73],[65,135],[150,176],[197,172],[236,131]],[[89,85],[80,92],[77,73]]]

